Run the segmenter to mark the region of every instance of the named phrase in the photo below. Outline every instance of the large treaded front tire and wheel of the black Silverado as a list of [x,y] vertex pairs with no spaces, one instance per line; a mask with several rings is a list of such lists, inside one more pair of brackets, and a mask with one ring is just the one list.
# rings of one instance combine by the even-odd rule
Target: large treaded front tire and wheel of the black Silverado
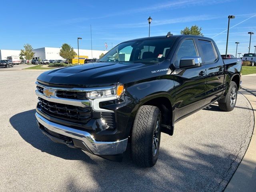
[[141,106],[132,128],[132,160],[142,167],[152,167],[158,160],[161,138],[161,112],[158,107]]

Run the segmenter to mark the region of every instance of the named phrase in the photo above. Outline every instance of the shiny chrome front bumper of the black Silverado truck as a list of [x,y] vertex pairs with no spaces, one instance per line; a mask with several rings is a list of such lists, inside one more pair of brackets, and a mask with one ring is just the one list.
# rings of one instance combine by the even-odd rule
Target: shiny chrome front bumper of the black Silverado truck
[[57,137],[54,137],[52,134],[46,133],[45,130],[42,129],[43,133],[53,141],[59,141],[60,143],[64,143],[69,147],[80,148],[96,155],[116,155],[126,150],[128,138],[114,142],[96,141],[90,133],[51,122],[41,116],[38,112],[36,112],[36,119],[39,126],[50,130],[50,132],[54,132],[56,134],[70,138],[71,140],[61,140]]

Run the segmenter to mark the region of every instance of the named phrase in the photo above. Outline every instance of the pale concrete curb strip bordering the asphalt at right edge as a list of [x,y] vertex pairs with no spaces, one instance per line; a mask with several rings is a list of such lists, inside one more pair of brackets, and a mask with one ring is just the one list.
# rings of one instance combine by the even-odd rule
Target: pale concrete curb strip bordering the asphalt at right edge
[[[254,113],[254,129],[248,148],[238,168],[226,186],[224,192],[255,192],[256,191],[256,95],[252,90],[242,88],[239,91],[250,102]],[[249,94],[248,94],[249,93]]]

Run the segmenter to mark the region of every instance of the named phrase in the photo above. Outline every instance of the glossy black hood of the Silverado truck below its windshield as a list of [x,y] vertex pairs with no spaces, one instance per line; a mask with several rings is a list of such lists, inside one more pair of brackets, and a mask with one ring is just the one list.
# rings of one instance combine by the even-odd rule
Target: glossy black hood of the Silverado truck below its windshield
[[[116,84],[122,74],[154,64],[96,62],[58,68],[40,74],[38,81],[51,85],[96,87]],[[122,82],[121,82],[122,83]]]

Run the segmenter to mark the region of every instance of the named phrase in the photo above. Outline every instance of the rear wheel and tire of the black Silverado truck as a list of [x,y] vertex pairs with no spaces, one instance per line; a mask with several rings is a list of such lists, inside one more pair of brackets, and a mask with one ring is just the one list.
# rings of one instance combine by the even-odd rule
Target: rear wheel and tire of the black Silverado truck
[[219,108],[222,111],[232,111],[236,106],[236,98],[237,98],[237,86],[236,86],[236,83],[232,81],[230,83],[230,87],[228,89],[225,102],[218,103]]

